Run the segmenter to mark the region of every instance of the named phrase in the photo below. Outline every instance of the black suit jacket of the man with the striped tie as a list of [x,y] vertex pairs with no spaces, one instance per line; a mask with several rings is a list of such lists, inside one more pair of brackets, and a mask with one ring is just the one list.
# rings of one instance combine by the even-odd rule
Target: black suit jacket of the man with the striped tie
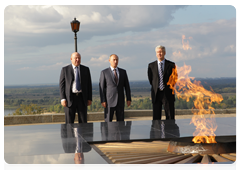
[[[165,66],[163,71],[163,84],[165,86],[164,92],[166,94],[167,99],[171,101],[175,101],[175,95],[172,94],[172,89],[169,88],[167,82],[169,80],[170,75],[172,74],[172,69],[175,68],[175,63],[165,59]],[[158,61],[154,61],[148,65],[148,80],[152,85],[151,87],[151,97],[152,103],[155,103],[157,90],[159,88],[159,74],[158,74]]]

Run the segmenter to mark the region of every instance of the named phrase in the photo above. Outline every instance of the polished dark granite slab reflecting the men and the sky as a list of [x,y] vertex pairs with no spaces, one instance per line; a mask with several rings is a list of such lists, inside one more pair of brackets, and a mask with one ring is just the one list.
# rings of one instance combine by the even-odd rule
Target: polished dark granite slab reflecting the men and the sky
[[[238,135],[237,118],[216,118],[216,122],[217,136]],[[195,126],[190,124],[190,119],[5,126],[4,167],[19,170],[75,169],[80,163],[81,168],[87,169],[196,169],[201,164],[110,167],[89,145],[105,141],[170,140],[192,136],[194,131]],[[237,162],[215,164],[219,169],[237,169]]]

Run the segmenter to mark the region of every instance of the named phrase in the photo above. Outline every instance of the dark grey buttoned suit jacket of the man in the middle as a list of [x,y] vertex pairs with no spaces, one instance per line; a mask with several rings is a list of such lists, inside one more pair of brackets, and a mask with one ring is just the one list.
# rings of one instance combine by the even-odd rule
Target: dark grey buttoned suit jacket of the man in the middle
[[118,71],[118,84],[115,83],[114,76],[110,67],[103,70],[100,75],[99,92],[101,103],[107,102],[108,107],[115,107],[117,104],[124,107],[124,88],[127,101],[131,101],[131,90],[127,72],[121,68],[118,68]]

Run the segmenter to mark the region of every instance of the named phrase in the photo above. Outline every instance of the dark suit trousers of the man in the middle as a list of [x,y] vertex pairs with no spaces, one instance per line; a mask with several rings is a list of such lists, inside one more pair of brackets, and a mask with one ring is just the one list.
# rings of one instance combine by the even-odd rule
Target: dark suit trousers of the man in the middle
[[107,105],[106,108],[104,108],[105,122],[112,122],[114,111],[116,111],[115,115],[117,121],[124,121],[124,106],[119,106],[117,104],[115,107],[108,107]]

